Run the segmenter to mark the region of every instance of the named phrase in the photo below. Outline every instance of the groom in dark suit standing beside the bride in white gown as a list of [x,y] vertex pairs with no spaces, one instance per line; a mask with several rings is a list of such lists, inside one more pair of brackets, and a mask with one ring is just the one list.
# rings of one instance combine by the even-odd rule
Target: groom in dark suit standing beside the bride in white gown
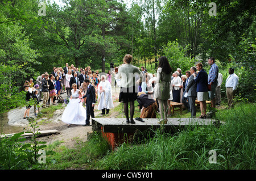
[[90,116],[94,117],[94,105],[96,103],[96,95],[95,95],[95,89],[93,85],[90,84],[90,81],[88,78],[84,80],[84,83],[86,86],[88,86],[88,89],[86,91],[86,94],[82,96],[82,98],[86,98],[86,120],[84,126],[90,125]]

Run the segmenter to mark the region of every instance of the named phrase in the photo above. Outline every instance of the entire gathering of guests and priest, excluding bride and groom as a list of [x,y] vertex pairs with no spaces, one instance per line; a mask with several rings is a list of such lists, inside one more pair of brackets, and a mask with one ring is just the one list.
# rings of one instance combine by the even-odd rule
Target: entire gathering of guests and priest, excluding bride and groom
[[[158,69],[155,74],[148,73],[142,66],[141,70],[131,65],[132,56],[127,54],[123,58],[123,64],[119,66],[118,71],[108,71],[106,75],[101,75],[98,71],[92,71],[90,67],[85,69],[69,66],[68,63],[64,68],[53,68],[51,74],[45,72],[36,79],[34,85],[33,79],[26,81],[24,87],[27,91],[26,101],[31,98],[36,100],[36,103],[42,103],[42,107],[47,107],[50,104],[55,105],[57,96],[67,93],[68,98],[71,97],[73,85],[81,92],[81,95],[86,94],[88,83],[85,80],[89,79],[91,85],[94,86],[96,100],[98,100],[98,110],[102,111],[102,115],[109,113],[113,106],[112,99],[112,78],[114,75],[115,84],[119,79],[119,102],[123,103],[123,108],[126,116],[126,123],[134,124],[134,101],[139,103],[141,116],[139,118],[156,117],[156,112],[160,112],[161,121],[159,123],[167,123],[167,116],[170,115],[170,102],[183,103],[191,117],[196,117],[196,99],[200,102],[201,115],[199,118],[205,118],[207,104],[206,100],[210,99],[211,107],[220,105],[220,86],[222,83],[222,74],[218,72],[218,66],[215,64],[213,57],[209,58],[210,65],[209,73],[203,69],[203,64],[199,63],[192,66],[189,71],[185,71],[185,75],[181,74],[181,69],[177,68],[172,73],[172,68],[166,57],[159,58]],[[126,74],[123,78],[121,74]],[[137,78],[127,79],[129,73],[137,73]],[[230,76],[226,80],[226,94],[228,97],[228,105],[233,105],[233,91],[238,85],[238,77],[234,74],[234,69],[230,68]],[[31,89],[31,90],[29,90]],[[138,93],[139,92],[139,93]],[[86,102],[86,96],[83,100]],[[130,104],[130,119],[129,105]],[[30,105],[27,105],[24,112],[24,119],[29,115]],[[39,106],[35,107],[35,115],[39,112]],[[27,117],[26,117],[27,115]]]

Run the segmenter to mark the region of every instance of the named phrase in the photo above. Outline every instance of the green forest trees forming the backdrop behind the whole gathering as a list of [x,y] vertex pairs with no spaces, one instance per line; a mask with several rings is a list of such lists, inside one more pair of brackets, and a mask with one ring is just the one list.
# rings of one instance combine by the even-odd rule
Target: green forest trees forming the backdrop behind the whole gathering
[[22,106],[24,81],[54,66],[106,72],[125,54],[151,73],[160,56],[183,74],[215,57],[224,83],[230,67],[240,78],[237,100],[255,102],[255,1],[62,2],[0,1],[0,112]]

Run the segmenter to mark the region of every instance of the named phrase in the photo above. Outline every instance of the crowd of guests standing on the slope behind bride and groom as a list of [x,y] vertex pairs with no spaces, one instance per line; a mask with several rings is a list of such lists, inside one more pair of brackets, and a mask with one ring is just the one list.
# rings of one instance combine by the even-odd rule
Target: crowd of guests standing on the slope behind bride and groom
[[[111,78],[109,78],[109,74],[106,74],[108,77],[108,80],[111,82]],[[34,80],[31,78],[30,81],[25,81],[24,88],[26,91],[26,102],[28,102],[28,105],[26,106],[26,111],[24,112],[23,118],[28,118],[29,111],[31,108],[31,105],[29,101],[31,99],[35,99],[35,102],[39,104],[39,102],[42,102],[42,108],[49,107],[51,104],[56,105],[57,97],[61,94],[67,94],[68,98],[71,98],[71,90],[72,85],[75,83],[77,85],[77,88],[81,91],[82,95],[86,94],[87,86],[85,86],[84,80],[89,79],[90,83],[95,87],[96,89],[96,98],[98,98],[98,95],[102,94],[102,90],[98,90],[98,85],[100,84],[101,80],[100,74],[98,73],[98,70],[92,71],[90,69],[90,66],[79,69],[76,68],[73,64],[71,66],[68,65],[68,63],[65,65],[64,68],[62,67],[54,67],[53,71],[51,73],[44,72],[42,75],[39,75],[38,78],[36,78],[36,84],[34,85]],[[105,77],[106,79],[106,77]],[[103,84],[102,82],[102,84]],[[105,88],[105,85],[103,86]],[[100,96],[99,96],[100,98]],[[101,101],[103,99],[101,98]],[[86,101],[86,98],[84,99],[84,102]],[[100,99],[99,99],[100,101]],[[112,105],[110,105],[111,107]],[[34,113],[35,116],[38,116],[39,106],[36,106]],[[102,108],[103,110],[103,108]],[[103,111],[102,111],[103,112]],[[106,111],[106,113],[109,112],[109,107]],[[27,115],[27,116],[26,116]]]

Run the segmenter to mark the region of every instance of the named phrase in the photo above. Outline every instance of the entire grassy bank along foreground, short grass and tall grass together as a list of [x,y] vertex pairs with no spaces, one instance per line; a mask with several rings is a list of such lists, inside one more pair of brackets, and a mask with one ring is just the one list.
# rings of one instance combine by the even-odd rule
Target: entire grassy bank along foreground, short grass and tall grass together
[[[100,134],[77,148],[54,148],[47,158],[48,169],[256,169],[255,105],[240,104],[233,110],[219,110],[217,128],[193,127],[171,135],[161,129],[155,136],[110,151]],[[212,154],[216,152],[216,163]],[[54,164],[53,164],[54,163]]]

